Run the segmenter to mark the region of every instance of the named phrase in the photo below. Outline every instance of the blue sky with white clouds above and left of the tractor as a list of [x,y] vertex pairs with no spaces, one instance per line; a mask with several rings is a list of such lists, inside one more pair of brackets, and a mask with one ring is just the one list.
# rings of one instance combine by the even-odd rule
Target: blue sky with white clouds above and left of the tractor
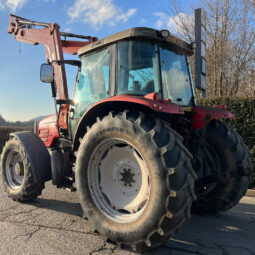
[[[44,47],[17,42],[8,34],[10,13],[102,39],[135,26],[171,29],[176,17],[167,14],[166,6],[167,0],[0,0],[0,115],[26,121],[54,113],[50,85],[40,81]],[[66,71],[71,98],[77,68],[66,65]]]

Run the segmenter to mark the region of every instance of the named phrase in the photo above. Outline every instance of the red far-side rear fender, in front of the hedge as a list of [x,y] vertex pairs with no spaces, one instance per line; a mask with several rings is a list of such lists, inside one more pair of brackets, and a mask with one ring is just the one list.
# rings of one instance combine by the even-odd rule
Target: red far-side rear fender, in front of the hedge
[[191,129],[195,130],[202,128],[205,122],[205,116],[210,115],[210,120],[213,119],[234,119],[233,113],[227,110],[225,105],[210,106],[196,106],[193,109]]

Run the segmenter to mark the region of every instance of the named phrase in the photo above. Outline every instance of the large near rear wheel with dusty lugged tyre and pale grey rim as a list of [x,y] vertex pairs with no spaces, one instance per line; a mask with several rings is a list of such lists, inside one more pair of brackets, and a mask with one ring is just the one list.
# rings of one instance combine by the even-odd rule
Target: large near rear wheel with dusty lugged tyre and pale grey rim
[[76,161],[85,216],[115,243],[145,250],[178,232],[195,199],[191,155],[167,125],[110,113],[88,128]]

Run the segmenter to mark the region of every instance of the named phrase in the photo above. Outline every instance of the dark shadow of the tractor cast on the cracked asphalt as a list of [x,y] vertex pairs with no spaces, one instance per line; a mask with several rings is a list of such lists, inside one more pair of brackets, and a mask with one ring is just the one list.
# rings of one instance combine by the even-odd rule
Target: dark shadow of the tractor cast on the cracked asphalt
[[[79,203],[39,198],[31,205],[82,216]],[[253,228],[251,226],[254,226]],[[173,239],[145,254],[255,254],[255,204],[240,203],[234,209],[206,216],[192,215]]]

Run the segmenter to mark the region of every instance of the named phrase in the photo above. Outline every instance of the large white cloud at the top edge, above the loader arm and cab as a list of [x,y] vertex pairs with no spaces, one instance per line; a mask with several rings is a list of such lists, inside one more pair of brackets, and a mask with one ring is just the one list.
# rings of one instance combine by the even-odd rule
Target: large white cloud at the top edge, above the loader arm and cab
[[81,20],[91,24],[94,28],[101,28],[104,24],[114,26],[118,22],[127,22],[136,12],[136,8],[126,12],[113,3],[114,0],[75,0],[68,8],[67,14],[72,21]]

